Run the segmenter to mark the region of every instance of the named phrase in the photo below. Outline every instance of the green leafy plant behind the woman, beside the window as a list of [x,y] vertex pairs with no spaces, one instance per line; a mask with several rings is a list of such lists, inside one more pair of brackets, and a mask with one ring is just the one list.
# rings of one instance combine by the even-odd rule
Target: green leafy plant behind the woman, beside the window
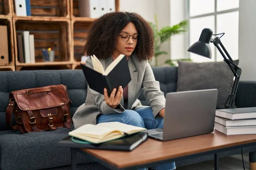
[[[165,26],[161,28],[160,30],[158,29],[158,23],[157,23],[157,17],[154,16],[155,19],[155,24],[148,22],[149,25],[151,26],[153,33],[154,33],[154,57],[155,57],[155,66],[157,66],[157,58],[161,54],[168,54],[166,51],[161,51],[161,45],[168,40],[172,35],[179,34],[181,32],[186,32],[187,31],[187,26],[188,26],[188,20],[183,20],[177,25],[174,26]],[[191,59],[167,59],[165,61],[166,64],[169,65],[175,65],[175,61],[177,60],[191,60]]]

